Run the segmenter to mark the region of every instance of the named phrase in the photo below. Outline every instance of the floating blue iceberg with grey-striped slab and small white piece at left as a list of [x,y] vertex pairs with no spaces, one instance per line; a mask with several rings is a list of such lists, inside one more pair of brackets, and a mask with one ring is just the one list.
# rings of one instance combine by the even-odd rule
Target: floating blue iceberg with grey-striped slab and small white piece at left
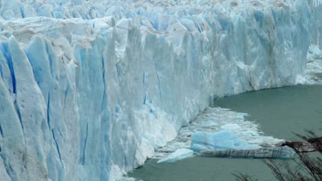
[[292,159],[297,154],[288,146],[261,147],[250,144],[238,138],[234,132],[222,130],[219,132],[195,132],[191,136],[191,149],[180,148],[169,154],[160,162],[176,162],[194,156],[219,158],[270,158]]

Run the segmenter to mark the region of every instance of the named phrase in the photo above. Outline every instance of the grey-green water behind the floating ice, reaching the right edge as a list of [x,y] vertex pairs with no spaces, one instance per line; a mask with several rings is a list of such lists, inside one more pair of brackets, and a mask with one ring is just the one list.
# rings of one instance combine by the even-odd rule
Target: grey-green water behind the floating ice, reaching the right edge
[[294,139],[293,132],[322,132],[322,85],[272,88],[225,97],[213,106],[247,112],[248,119],[276,138]]

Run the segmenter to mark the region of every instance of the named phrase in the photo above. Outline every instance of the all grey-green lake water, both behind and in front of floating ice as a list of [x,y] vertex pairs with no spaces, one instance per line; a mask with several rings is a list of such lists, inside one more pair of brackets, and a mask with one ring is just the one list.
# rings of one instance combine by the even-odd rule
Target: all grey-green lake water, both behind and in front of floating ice
[[[313,130],[322,133],[322,85],[272,88],[224,97],[213,106],[246,112],[268,136],[299,139],[294,133]],[[245,173],[259,180],[276,180],[270,169],[257,159],[193,157],[175,163],[150,159],[129,176],[144,181],[230,181],[231,173]],[[292,162],[279,160],[279,162]]]

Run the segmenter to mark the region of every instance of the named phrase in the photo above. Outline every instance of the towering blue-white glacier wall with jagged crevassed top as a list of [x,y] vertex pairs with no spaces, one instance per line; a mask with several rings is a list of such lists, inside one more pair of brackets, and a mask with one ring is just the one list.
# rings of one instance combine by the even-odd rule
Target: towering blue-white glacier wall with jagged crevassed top
[[116,180],[322,49],[321,1],[0,3],[0,180]]

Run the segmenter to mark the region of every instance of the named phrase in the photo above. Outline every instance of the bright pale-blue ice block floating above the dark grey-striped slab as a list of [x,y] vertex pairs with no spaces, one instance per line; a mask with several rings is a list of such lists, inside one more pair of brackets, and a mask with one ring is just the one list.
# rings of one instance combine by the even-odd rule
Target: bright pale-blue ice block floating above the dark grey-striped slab
[[241,141],[228,130],[220,132],[195,132],[191,135],[191,149],[194,152],[203,150],[259,149],[259,145]]

